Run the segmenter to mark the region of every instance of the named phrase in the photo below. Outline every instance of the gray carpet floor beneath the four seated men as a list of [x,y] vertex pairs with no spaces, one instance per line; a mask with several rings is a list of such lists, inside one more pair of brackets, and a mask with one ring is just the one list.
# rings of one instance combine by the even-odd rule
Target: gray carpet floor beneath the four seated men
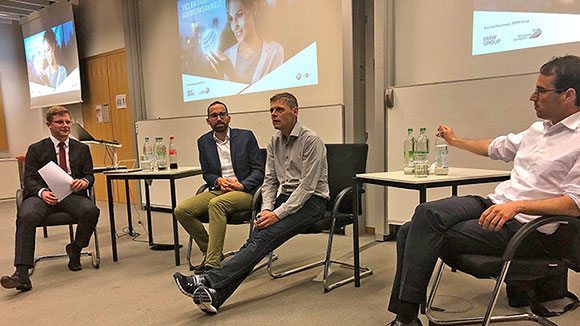
[[[148,249],[145,212],[134,208],[136,231],[132,239],[123,235],[126,226],[124,205],[116,205],[119,261],[114,263],[106,202],[99,202],[101,217],[98,233],[101,249],[100,269],[84,258],[83,270],[68,271],[67,259],[41,262],[32,276],[33,289],[26,293],[0,289],[0,325],[385,325],[393,319],[387,312],[387,297],[395,272],[395,243],[375,242],[372,235],[361,237],[362,264],[374,274],[361,282],[324,293],[315,279],[321,269],[313,269],[283,279],[272,279],[265,270],[254,272],[221,307],[215,316],[200,312],[191,299],[176,288],[172,274],[189,273],[185,249],[181,266],[175,266],[172,251]],[[0,202],[0,274],[13,272],[14,201]],[[143,221],[143,224],[137,223]],[[172,242],[170,215],[153,213],[156,242]],[[63,253],[68,243],[66,227],[52,227],[48,238],[37,232],[37,255]],[[229,227],[225,250],[240,247],[248,226]],[[181,243],[186,233],[180,228]],[[91,241],[91,250],[93,242]],[[320,259],[326,248],[326,235],[298,236],[276,250],[279,268],[299,266]],[[352,260],[352,240],[336,236],[333,257]],[[201,259],[194,250],[193,261]],[[334,268],[332,279],[348,276],[349,270]],[[436,306],[445,307],[441,318],[482,314],[493,282],[476,280],[462,273],[447,272],[442,280]],[[580,293],[580,278],[570,273],[570,290]],[[504,290],[505,291],[505,290]],[[564,302],[551,303],[562,306]],[[498,313],[518,312],[507,305],[505,292],[497,305]],[[420,316],[424,325],[427,318]],[[579,325],[580,309],[552,318],[558,325]],[[530,325],[530,322],[510,325]],[[496,324],[500,325],[500,324]]]

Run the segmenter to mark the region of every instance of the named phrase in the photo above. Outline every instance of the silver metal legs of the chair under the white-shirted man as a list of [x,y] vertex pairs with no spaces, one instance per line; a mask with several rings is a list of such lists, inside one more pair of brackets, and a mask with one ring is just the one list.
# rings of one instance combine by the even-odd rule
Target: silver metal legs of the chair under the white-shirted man
[[437,276],[436,276],[436,279],[433,283],[431,293],[429,294],[429,298],[427,300],[427,307],[426,307],[425,313],[427,315],[427,318],[429,319],[429,325],[480,324],[482,326],[488,326],[489,323],[493,323],[493,322],[500,322],[500,321],[510,322],[510,321],[529,320],[529,321],[533,321],[533,322],[542,324],[544,326],[558,326],[558,325],[554,324],[553,322],[547,320],[546,318],[544,318],[542,316],[538,316],[538,315],[531,313],[531,312],[519,313],[519,314],[510,314],[510,315],[503,315],[503,316],[492,316],[493,311],[495,309],[495,305],[497,303],[497,299],[498,299],[499,294],[500,294],[502,283],[505,280],[505,277],[507,275],[509,265],[510,265],[510,261],[506,261],[502,267],[502,271],[500,273],[500,276],[496,280],[495,287],[494,287],[494,290],[493,290],[493,293],[492,293],[492,296],[491,296],[491,299],[490,299],[490,302],[489,302],[489,305],[487,307],[487,311],[486,311],[484,317],[440,320],[440,319],[435,319],[435,317],[431,314],[431,311],[432,311],[431,305],[433,304],[433,301],[435,299],[435,295],[436,295],[437,289],[439,287],[441,277],[443,275],[443,269],[445,267],[445,264],[441,261],[440,265],[439,265],[439,269],[436,273]]

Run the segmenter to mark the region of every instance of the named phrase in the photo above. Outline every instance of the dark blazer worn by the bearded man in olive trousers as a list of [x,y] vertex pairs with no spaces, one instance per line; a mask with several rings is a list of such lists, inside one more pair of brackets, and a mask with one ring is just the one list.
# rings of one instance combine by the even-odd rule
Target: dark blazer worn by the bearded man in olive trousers
[[[197,148],[203,179],[213,187],[222,176],[213,131],[199,137]],[[264,181],[264,159],[254,134],[250,130],[230,128],[230,154],[236,178],[244,185],[245,192],[254,193]]]

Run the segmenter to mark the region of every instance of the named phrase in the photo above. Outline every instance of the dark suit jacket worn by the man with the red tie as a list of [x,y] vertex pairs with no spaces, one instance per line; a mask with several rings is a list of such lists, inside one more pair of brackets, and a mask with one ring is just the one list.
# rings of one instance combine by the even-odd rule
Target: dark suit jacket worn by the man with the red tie
[[[71,176],[73,179],[86,179],[89,182],[87,188],[90,188],[95,182],[95,177],[93,176],[93,159],[89,146],[71,138],[68,155]],[[48,188],[38,170],[50,161],[58,165],[54,143],[50,138],[45,138],[28,146],[24,165],[24,199],[38,196],[40,189]],[[88,196],[84,189],[76,194]]]

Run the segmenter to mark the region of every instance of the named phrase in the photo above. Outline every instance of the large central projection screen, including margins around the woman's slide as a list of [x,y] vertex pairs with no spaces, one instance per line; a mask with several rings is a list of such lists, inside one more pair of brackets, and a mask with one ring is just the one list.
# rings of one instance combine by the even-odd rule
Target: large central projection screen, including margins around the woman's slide
[[301,107],[344,102],[341,1],[140,1],[139,19],[149,119],[203,115],[215,99],[264,110],[281,91]]

